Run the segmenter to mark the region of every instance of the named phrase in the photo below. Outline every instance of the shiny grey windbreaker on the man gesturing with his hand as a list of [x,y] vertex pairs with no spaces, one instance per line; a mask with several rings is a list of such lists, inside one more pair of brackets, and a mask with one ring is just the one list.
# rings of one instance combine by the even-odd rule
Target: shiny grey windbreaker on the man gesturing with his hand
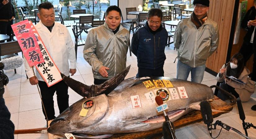
[[[94,78],[110,79],[126,68],[129,38],[129,31],[122,25],[116,34],[106,23],[88,32],[83,57],[92,66]],[[99,73],[102,66],[109,68],[108,78]]]

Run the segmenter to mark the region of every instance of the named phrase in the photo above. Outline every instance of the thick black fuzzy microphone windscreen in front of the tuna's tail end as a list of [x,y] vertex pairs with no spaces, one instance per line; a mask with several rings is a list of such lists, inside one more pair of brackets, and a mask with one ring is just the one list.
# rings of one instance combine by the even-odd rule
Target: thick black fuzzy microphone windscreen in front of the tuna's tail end
[[200,110],[204,120],[204,124],[211,124],[213,123],[213,114],[212,108],[208,101],[202,101],[200,103]]

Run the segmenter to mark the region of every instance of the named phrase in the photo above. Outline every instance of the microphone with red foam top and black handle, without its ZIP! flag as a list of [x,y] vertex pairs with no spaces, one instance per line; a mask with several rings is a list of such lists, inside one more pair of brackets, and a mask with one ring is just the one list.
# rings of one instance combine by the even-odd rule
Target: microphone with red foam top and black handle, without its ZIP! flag
[[[160,106],[164,104],[163,99],[158,95],[155,97],[155,102]],[[163,123],[163,137],[164,139],[177,139],[175,136],[173,122],[170,121],[168,115],[164,112],[165,122]],[[168,128],[167,128],[168,127]]]

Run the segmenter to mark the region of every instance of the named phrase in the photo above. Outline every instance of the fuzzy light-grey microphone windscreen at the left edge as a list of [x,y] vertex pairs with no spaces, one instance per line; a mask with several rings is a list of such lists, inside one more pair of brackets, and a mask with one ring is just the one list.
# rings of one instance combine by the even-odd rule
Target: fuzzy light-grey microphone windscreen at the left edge
[[16,69],[23,64],[23,58],[19,56],[14,56],[10,58],[2,59],[1,61],[4,65],[4,70]]

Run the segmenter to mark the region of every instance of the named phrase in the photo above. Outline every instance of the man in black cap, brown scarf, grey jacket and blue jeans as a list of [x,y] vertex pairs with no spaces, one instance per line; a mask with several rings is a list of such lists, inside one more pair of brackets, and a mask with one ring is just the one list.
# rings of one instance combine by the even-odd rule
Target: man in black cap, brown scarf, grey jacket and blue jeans
[[177,79],[201,83],[205,63],[219,44],[218,25],[207,19],[209,0],[194,0],[194,11],[190,18],[181,20],[174,33],[174,46],[177,50]]

